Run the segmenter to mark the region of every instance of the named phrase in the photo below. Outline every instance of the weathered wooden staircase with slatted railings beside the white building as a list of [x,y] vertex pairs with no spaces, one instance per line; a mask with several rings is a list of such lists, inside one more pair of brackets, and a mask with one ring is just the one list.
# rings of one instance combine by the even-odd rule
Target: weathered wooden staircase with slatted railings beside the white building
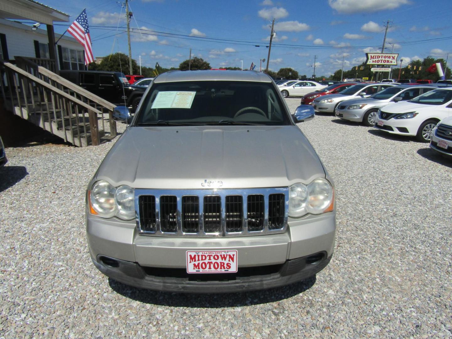
[[115,105],[26,58],[1,63],[6,110],[79,147],[117,136]]

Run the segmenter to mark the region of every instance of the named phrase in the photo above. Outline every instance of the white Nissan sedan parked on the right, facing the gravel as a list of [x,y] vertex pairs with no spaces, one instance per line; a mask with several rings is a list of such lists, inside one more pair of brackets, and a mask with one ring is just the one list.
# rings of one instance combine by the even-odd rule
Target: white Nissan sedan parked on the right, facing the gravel
[[438,88],[405,103],[390,104],[380,109],[374,127],[429,142],[433,128],[440,120],[450,116],[452,87]]

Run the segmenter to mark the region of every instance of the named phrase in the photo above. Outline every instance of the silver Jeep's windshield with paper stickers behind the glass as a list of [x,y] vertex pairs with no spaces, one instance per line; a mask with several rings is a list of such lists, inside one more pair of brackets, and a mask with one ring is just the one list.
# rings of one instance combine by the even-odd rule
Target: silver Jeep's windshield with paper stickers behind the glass
[[184,81],[151,86],[137,126],[290,124],[271,83]]

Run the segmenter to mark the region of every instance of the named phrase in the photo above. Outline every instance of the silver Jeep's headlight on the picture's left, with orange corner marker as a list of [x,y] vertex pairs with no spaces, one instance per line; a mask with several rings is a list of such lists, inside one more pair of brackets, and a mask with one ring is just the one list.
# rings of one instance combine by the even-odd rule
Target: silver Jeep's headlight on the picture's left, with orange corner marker
[[135,217],[135,190],[127,185],[113,187],[105,180],[94,183],[89,194],[89,212],[103,218]]

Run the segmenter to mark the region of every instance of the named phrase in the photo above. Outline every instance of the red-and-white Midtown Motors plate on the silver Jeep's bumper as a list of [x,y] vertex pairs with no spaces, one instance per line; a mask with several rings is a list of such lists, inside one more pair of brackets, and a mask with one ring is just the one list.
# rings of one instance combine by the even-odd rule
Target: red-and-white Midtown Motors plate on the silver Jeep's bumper
[[237,250],[187,251],[187,273],[235,273]]

